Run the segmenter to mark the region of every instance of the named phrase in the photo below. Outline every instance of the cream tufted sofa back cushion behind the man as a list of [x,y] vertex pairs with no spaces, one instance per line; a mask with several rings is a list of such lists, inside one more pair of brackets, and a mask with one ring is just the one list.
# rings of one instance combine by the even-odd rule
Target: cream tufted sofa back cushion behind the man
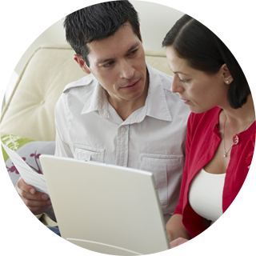
[[[39,141],[54,141],[54,105],[69,82],[82,78],[67,45],[40,46],[27,62],[0,118],[0,132],[18,134]],[[171,74],[164,51],[146,51],[146,62]],[[56,225],[42,216],[32,225]],[[26,225],[27,226],[27,225]],[[10,225],[0,215],[0,229]]]

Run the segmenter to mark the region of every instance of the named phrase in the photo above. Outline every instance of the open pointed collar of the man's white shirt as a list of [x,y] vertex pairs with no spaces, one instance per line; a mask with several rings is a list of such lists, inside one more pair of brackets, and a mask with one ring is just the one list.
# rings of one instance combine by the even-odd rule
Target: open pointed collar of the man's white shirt
[[[172,121],[170,110],[166,102],[165,89],[162,85],[161,78],[158,75],[158,71],[154,68],[146,65],[149,72],[150,86],[148,90],[148,95],[146,97],[145,106],[134,111],[129,118],[125,120],[124,123],[134,123],[142,122],[142,120],[149,116],[151,118],[158,118],[164,121]],[[96,79],[94,78],[94,81]],[[97,81],[94,86],[94,92],[91,95],[90,100],[88,100],[82,109],[81,114],[88,114],[93,111],[98,111],[105,118],[109,118],[108,110],[109,102],[107,99],[107,92]],[[123,124],[124,124],[123,123]]]

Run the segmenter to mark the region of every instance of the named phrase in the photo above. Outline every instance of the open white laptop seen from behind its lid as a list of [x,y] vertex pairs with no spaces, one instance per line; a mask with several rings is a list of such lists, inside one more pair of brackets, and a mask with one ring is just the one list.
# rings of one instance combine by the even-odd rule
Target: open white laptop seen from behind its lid
[[150,172],[41,155],[66,254],[171,256]]

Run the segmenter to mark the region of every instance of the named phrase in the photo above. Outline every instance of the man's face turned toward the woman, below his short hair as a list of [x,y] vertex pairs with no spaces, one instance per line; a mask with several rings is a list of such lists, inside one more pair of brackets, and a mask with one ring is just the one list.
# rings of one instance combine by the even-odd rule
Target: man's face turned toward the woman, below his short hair
[[116,109],[133,104],[143,106],[148,88],[145,54],[130,23],[114,35],[87,46],[90,67],[85,62],[80,66],[98,79],[109,94],[110,104]]

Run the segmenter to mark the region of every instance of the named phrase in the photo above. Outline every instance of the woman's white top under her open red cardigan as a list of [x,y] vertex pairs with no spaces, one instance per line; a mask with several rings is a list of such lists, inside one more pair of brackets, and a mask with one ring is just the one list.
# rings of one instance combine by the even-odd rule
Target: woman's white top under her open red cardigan
[[209,174],[202,169],[190,184],[190,206],[202,218],[211,221],[208,241],[214,246],[228,246],[222,212],[225,176],[226,174]]

